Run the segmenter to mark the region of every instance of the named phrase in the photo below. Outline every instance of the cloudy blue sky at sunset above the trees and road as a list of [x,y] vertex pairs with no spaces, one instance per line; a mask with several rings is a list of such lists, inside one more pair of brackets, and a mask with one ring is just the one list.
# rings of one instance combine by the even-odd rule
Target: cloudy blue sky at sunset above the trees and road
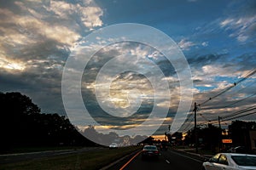
[[[159,128],[158,134],[161,134],[172,124],[183,100],[181,89],[185,86],[181,81],[185,80],[179,77],[179,70],[168,62],[160,49],[129,42],[127,37],[120,37],[123,42],[108,38],[108,46],[103,48],[98,46],[106,43],[105,37],[98,36],[97,42],[88,43],[86,38],[99,29],[123,23],[157,29],[172,38],[172,45],[182,52],[180,55],[189,65],[193,82],[192,87],[186,88],[193,97],[190,96],[189,111],[184,110],[184,117],[192,115],[194,102],[197,102],[203,104],[198,106],[201,126],[209,121],[218,124],[216,120],[220,116],[223,117],[221,125],[227,127],[235,119],[224,121],[225,116],[234,118],[230,115],[241,116],[238,111],[248,114],[255,109],[256,77],[250,74],[256,69],[255,1],[0,0],[0,18],[0,91],[26,94],[44,113],[68,116],[67,112],[72,110],[73,115],[68,117],[81,128],[88,118],[79,113],[85,106],[96,124],[104,128],[122,130],[148,122],[147,126]],[[129,34],[130,30],[127,32]],[[111,33],[115,34],[119,35]],[[141,35],[142,31],[135,31],[133,38]],[[164,44],[150,34],[147,38]],[[81,56],[81,53],[88,53],[87,48],[99,50],[91,58],[86,54]],[[67,61],[72,57],[79,58],[76,62],[88,60],[86,66],[82,65],[80,91],[84,106],[77,106],[78,97],[70,89],[67,96],[73,108],[65,110],[61,81],[63,83]],[[129,65],[137,70],[115,72]],[[156,76],[148,72],[155,67],[160,68],[163,77],[154,84],[151,80]],[[102,68],[107,69],[102,71]],[[76,75],[76,71],[78,68],[72,74]],[[99,80],[96,84],[99,73],[103,82]],[[111,76],[107,86],[105,83]],[[169,92],[156,94],[155,87],[166,89],[161,82],[163,79],[167,81]],[[74,79],[66,81],[71,88]],[[239,83],[234,86],[235,82]],[[230,89],[221,94],[227,88]],[[189,95],[184,100],[187,98]],[[156,111],[167,110],[163,117],[150,117],[155,101],[159,102]],[[247,111],[248,108],[252,110]],[[181,132],[193,127],[191,117],[188,116],[187,123],[180,127]],[[256,116],[237,119],[256,121]],[[163,124],[159,127],[159,123]]]

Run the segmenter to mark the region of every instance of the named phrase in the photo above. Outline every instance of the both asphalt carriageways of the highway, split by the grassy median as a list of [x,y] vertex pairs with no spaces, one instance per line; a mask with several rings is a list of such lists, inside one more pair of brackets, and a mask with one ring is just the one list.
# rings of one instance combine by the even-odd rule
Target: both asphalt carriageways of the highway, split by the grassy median
[[[20,153],[20,154],[9,154],[0,156],[1,163],[15,163],[19,161],[27,160],[37,160],[44,157],[55,157],[60,155],[70,155],[76,154],[84,151],[94,151],[94,150],[108,150],[108,148],[98,148],[89,147],[82,148],[78,150],[49,150],[42,152],[31,152],[31,153]],[[201,164],[204,158],[199,156],[191,156],[181,151],[177,150],[163,150],[160,151],[160,157],[158,160],[148,159],[142,160],[140,151],[137,154],[127,156],[122,161],[117,161],[118,163],[113,164],[112,167],[103,167],[104,170],[201,170]]]

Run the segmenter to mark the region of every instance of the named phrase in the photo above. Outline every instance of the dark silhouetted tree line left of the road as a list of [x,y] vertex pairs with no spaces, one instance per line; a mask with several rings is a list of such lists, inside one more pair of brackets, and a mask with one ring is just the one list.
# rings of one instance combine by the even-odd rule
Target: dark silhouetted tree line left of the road
[[32,99],[19,92],[0,93],[2,153],[15,147],[94,145],[66,116],[41,113]]

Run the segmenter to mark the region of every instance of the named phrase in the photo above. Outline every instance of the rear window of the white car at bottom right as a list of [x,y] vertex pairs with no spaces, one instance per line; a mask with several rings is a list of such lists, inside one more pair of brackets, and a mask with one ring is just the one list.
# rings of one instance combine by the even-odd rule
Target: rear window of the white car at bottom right
[[256,156],[231,156],[239,166],[256,166]]

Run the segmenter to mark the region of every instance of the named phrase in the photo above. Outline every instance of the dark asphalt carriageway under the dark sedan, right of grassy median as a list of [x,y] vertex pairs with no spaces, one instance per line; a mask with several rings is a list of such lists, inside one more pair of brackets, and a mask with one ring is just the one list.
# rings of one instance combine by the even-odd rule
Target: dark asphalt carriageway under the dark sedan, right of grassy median
[[201,170],[202,161],[197,156],[189,156],[173,150],[160,152],[159,160],[148,159],[142,160],[141,154],[138,154],[134,159],[125,162],[120,169],[123,170]]

